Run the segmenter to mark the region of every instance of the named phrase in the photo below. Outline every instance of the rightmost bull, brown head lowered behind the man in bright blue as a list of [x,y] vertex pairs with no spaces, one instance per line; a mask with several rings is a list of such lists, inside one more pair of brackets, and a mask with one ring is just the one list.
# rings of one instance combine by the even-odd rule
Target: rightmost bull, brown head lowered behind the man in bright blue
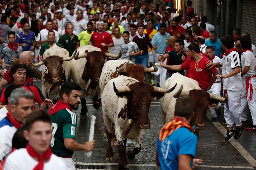
[[196,129],[204,130],[206,128],[206,113],[209,107],[213,107],[218,103],[218,101],[226,103],[228,97],[220,97],[218,95],[202,91],[198,83],[179,73],[172,74],[171,78],[168,78],[162,88],[172,87],[177,83],[177,87],[172,92],[165,94],[162,99],[160,99],[160,106],[163,113],[163,121],[171,122],[174,117],[176,98],[181,96],[190,96],[195,103],[195,116],[194,124]]

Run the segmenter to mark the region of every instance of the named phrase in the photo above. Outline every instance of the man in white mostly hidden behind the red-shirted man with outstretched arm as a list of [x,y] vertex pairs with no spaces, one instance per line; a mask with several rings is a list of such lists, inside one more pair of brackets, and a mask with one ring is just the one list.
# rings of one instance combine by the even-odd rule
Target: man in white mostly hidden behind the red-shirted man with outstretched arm
[[[214,55],[214,50],[213,50],[212,46],[207,46],[206,47],[205,54],[207,55],[207,58],[209,60],[211,60],[213,63],[219,63],[220,62],[220,58],[218,56]],[[221,74],[222,69],[221,68],[216,68],[216,69],[218,71],[218,74]],[[217,78],[215,80],[215,82],[212,84],[212,87],[208,92],[220,96],[220,89],[221,89],[221,82],[220,81],[221,81],[221,79]],[[215,108],[217,109],[217,113],[216,113],[216,110],[214,108],[211,108],[211,107],[209,108],[209,112],[212,115],[211,122],[216,122],[217,121],[217,115],[221,114],[222,110],[221,110],[220,106],[221,106],[220,102],[218,102],[218,104],[215,106]]]

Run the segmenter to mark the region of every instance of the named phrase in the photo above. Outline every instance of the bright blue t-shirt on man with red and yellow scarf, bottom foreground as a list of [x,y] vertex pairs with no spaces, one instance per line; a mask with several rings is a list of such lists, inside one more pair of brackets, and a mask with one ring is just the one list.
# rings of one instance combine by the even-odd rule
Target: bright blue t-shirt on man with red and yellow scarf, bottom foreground
[[175,170],[179,168],[179,155],[191,155],[192,167],[193,158],[196,155],[197,137],[186,127],[175,130],[170,136],[160,142],[157,140],[156,150],[161,169]]

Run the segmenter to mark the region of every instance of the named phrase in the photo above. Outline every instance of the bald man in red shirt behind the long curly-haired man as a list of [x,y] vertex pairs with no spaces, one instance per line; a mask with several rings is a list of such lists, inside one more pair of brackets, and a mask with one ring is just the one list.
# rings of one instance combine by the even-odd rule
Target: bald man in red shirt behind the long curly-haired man
[[[32,63],[33,62],[33,55],[29,51],[23,51],[20,53],[20,63]],[[0,81],[0,89],[5,85],[13,83],[13,77],[10,74],[11,68],[9,68],[6,73],[4,74],[3,78]],[[0,72],[1,73],[1,72]],[[27,83],[33,84],[33,78],[26,78]]]

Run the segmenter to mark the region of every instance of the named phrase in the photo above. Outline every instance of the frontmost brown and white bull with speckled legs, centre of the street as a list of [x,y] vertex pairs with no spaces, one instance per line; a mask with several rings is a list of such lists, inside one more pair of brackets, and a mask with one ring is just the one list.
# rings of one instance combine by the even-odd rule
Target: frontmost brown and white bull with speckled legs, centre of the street
[[[126,76],[109,80],[102,94],[102,112],[108,137],[106,159],[113,160],[111,138],[112,123],[114,123],[119,170],[129,167],[126,155],[129,159],[134,159],[141,150],[144,131],[150,128],[148,112],[151,101],[160,99],[164,93],[171,92],[175,86],[163,89]],[[136,144],[133,151],[129,150],[126,153],[127,138],[136,139]]]

